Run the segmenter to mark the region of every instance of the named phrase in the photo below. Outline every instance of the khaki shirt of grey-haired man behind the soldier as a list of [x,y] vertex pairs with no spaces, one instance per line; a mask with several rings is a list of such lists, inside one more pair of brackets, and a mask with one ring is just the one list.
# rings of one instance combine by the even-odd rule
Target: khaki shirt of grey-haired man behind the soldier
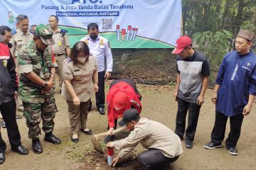
[[28,35],[22,32],[22,30],[17,29],[17,33],[14,34],[10,40],[13,47],[11,47],[11,53],[14,54],[14,57],[18,56],[18,52],[21,50],[23,45],[26,45],[28,42],[33,40],[33,35],[28,32]]

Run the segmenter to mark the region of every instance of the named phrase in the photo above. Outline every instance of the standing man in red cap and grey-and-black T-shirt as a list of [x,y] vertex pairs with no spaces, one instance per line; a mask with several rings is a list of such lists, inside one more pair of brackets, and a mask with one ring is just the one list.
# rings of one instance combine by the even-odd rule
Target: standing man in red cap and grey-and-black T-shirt
[[193,49],[192,40],[188,36],[178,38],[172,53],[178,55],[177,84],[174,92],[178,101],[175,132],[183,140],[188,111],[185,142],[187,148],[192,148],[200,108],[208,86],[209,63],[205,55]]

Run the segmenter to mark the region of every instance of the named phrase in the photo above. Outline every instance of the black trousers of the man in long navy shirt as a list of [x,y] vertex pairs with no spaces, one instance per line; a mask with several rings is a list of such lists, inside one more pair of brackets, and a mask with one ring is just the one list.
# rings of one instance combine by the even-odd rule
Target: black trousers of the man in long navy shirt
[[[235,147],[238,143],[243,118],[244,116],[242,113],[230,117],[230,132],[228,134],[227,140],[225,141],[225,145],[228,149],[230,147]],[[215,123],[211,133],[211,141],[214,144],[220,144],[223,142],[227,120],[228,116],[225,116],[223,113],[218,111],[215,112]]]

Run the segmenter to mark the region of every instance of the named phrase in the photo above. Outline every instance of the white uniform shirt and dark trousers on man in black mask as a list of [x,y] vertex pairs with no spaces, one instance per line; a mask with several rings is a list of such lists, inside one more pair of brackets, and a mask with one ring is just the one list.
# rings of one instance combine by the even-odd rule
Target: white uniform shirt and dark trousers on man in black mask
[[99,91],[95,94],[97,108],[105,107],[105,59],[107,61],[107,72],[112,72],[113,59],[110,49],[110,42],[98,35],[97,39],[93,41],[89,35],[82,38],[81,41],[87,43],[90,48],[90,53],[97,60]]

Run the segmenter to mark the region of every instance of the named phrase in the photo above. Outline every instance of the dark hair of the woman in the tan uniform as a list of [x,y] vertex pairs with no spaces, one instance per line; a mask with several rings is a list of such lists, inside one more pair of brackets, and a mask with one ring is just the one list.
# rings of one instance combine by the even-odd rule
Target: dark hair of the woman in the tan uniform
[[78,64],[77,58],[79,52],[85,52],[85,55],[90,55],[89,47],[83,41],[76,42],[71,50],[70,59],[73,60],[74,64]]

